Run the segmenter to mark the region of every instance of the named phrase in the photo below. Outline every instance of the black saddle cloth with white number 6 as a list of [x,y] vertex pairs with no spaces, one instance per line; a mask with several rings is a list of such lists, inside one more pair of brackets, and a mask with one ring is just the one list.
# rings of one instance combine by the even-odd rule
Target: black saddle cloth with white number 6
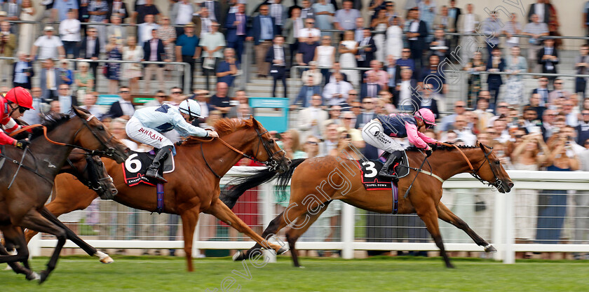
[[[137,186],[139,183],[146,183],[149,186],[156,186],[157,181],[152,181],[145,176],[147,167],[154,161],[156,153],[154,150],[149,152],[135,152],[131,151],[129,158],[123,162],[123,174],[125,176],[125,183],[127,186]],[[168,155],[168,158],[163,162],[163,173],[169,174],[175,168],[174,155]]]

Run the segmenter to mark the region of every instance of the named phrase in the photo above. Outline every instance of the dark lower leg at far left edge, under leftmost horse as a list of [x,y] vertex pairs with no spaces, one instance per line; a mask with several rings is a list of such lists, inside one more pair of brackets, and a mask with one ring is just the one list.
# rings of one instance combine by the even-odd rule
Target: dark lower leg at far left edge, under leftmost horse
[[[39,275],[29,268],[29,249],[27,242],[25,242],[25,235],[22,234],[22,229],[14,225],[6,225],[2,228],[6,244],[12,245],[17,253],[10,254],[4,246],[0,245],[0,263],[8,263],[12,270],[17,274],[25,274],[27,280],[39,279]],[[22,262],[25,266],[18,264]]]

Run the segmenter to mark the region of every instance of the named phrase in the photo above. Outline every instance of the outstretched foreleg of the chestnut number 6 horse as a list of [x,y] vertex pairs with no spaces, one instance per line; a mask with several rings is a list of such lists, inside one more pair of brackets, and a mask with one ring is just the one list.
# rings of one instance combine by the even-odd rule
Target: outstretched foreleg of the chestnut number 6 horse
[[259,236],[254,230],[250,228],[247,224],[245,224],[241,219],[229,209],[221,200],[216,200],[213,202],[208,209],[205,210],[205,213],[211,214],[219,218],[219,220],[223,221],[227,225],[235,228],[237,231],[242,232],[245,235],[248,235],[251,239],[254,239],[255,242],[260,244],[266,249],[273,249],[276,251],[277,254],[285,253],[288,249],[285,249],[283,246],[278,244],[273,244],[271,242],[267,242],[266,239]]

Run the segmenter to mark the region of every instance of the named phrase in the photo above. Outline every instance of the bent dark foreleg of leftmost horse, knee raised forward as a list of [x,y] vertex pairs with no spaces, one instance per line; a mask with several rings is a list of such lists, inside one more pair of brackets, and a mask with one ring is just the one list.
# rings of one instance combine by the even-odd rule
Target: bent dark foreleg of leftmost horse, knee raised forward
[[49,233],[57,237],[57,246],[55,246],[55,250],[49,259],[49,263],[47,263],[47,270],[41,271],[41,279],[39,280],[39,284],[41,284],[43,281],[46,281],[49,274],[55,270],[55,265],[57,265],[57,260],[60,258],[61,250],[65,244],[67,232],[65,229],[60,228],[47,218],[43,217],[36,209],[30,210],[29,213],[22,218],[19,225],[24,228]]

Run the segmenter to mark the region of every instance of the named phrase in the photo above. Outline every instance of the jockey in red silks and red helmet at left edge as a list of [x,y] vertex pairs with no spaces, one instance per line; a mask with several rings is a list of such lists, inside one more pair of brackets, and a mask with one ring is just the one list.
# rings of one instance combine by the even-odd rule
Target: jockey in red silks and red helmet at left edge
[[4,128],[4,132],[0,131],[0,145],[9,144],[24,149],[31,143],[29,139],[17,141],[6,134],[20,129],[14,119],[22,117],[29,109],[34,109],[33,97],[25,88],[13,88],[0,97],[0,124]]

